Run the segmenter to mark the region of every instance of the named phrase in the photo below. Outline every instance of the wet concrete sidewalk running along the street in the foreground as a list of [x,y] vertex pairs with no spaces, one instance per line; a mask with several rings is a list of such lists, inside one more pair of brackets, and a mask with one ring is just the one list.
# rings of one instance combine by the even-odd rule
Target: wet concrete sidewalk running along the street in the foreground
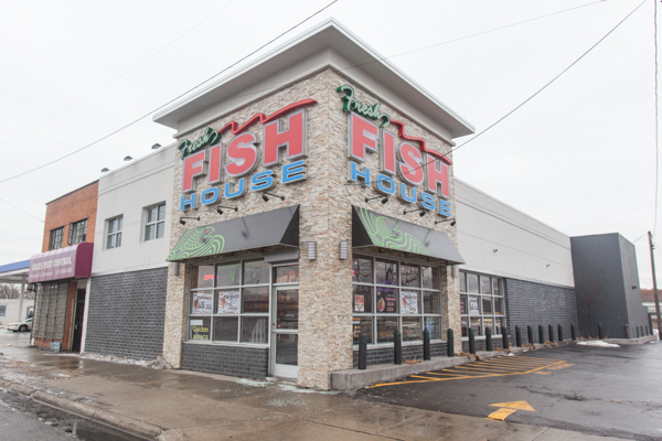
[[147,440],[615,440],[285,384],[156,370],[33,348],[4,352],[2,392],[25,395]]

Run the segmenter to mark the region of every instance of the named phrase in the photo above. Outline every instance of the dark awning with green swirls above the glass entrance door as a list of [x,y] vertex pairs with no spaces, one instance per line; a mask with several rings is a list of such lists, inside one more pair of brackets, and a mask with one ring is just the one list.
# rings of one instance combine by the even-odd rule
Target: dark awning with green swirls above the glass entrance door
[[299,205],[191,228],[168,260],[184,261],[274,245],[299,247]]

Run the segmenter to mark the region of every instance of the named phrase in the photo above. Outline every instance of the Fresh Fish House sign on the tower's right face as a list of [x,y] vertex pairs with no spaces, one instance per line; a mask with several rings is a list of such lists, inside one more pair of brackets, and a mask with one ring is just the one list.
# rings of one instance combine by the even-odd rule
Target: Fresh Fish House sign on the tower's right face
[[[426,149],[425,139],[407,136],[403,122],[378,114],[378,103],[370,106],[356,101],[351,86],[338,87],[337,92],[344,94],[342,110],[349,114],[348,181],[364,186],[372,184],[377,193],[397,195],[403,202],[449,217],[450,159]],[[371,119],[382,123],[377,126]],[[387,129],[387,121],[397,127],[397,135]],[[402,140],[399,144],[397,139]],[[374,180],[367,166],[360,168],[369,152],[380,155],[380,170]],[[394,180],[396,176],[399,184]]]

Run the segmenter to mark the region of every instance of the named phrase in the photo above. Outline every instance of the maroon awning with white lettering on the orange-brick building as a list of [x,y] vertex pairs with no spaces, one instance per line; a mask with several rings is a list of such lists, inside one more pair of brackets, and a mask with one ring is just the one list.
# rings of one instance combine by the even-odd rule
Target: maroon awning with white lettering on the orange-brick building
[[89,277],[93,248],[94,244],[83,243],[32,256],[28,282]]

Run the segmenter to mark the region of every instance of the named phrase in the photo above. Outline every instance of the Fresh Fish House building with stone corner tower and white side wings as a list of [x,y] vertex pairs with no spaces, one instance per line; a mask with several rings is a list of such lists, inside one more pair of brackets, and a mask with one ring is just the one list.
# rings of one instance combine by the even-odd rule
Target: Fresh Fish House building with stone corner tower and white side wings
[[329,389],[361,332],[374,365],[577,323],[570,238],[456,180],[471,125],[333,20],[154,120],[99,180],[86,352]]

